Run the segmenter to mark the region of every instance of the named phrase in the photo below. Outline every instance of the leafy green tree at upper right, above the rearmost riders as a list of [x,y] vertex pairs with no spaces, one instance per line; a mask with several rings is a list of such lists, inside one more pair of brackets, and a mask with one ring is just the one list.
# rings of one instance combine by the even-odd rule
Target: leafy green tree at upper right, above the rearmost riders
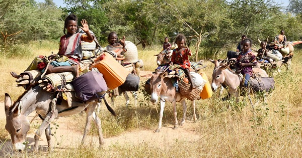
[[232,1],[228,12],[234,24],[234,29],[230,30],[231,37],[234,37],[234,40],[241,39],[242,35],[254,40],[257,37],[274,37],[283,25],[283,13],[280,10],[281,7],[270,0]]

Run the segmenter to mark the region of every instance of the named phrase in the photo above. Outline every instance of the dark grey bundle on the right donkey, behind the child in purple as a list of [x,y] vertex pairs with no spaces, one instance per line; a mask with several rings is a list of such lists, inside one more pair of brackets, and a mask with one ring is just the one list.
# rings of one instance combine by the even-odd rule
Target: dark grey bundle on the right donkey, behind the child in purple
[[272,77],[256,77],[251,79],[249,84],[255,92],[269,92],[274,89],[275,81]]

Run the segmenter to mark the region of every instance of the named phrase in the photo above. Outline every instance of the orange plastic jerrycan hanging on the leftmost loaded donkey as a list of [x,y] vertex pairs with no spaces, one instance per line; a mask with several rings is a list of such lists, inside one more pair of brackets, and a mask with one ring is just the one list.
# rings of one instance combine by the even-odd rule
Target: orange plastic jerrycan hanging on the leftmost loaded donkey
[[109,53],[104,53],[103,57],[103,60],[93,64],[90,70],[97,68],[103,74],[108,88],[114,89],[126,81],[129,71],[121,66]]

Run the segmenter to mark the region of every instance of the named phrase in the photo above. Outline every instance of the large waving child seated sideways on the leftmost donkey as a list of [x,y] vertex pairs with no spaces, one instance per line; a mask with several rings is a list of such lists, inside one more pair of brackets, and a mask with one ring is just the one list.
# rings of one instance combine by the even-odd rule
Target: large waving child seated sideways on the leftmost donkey
[[[46,65],[44,65],[44,67],[40,67],[41,72],[46,71],[46,74],[72,72],[75,77],[79,77],[79,62],[83,58],[81,41],[93,42],[95,38],[89,32],[89,26],[85,19],[81,21],[81,24],[83,27],[80,28],[86,33],[86,35],[78,33],[79,26],[77,16],[70,14],[66,17],[63,31],[65,35],[60,38],[58,54],[48,57],[48,60],[51,62],[48,67],[46,67]],[[67,34],[65,33],[65,30],[67,30]],[[30,65],[26,71],[33,70],[36,67],[37,66]],[[11,75],[15,78],[20,77],[20,75],[17,75],[14,72],[11,72]]]

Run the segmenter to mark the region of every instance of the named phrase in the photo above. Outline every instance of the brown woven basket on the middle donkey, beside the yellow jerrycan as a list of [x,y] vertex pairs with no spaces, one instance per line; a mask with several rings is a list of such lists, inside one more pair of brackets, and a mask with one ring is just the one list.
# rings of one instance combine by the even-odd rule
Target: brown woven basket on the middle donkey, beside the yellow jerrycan
[[201,90],[198,88],[190,88],[190,84],[180,81],[179,82],[179,90],[180,90],[180,94],[182,94],[183,96],[187,97],[189,100],[196,100],[196,99],[200,99],[200,93]]

